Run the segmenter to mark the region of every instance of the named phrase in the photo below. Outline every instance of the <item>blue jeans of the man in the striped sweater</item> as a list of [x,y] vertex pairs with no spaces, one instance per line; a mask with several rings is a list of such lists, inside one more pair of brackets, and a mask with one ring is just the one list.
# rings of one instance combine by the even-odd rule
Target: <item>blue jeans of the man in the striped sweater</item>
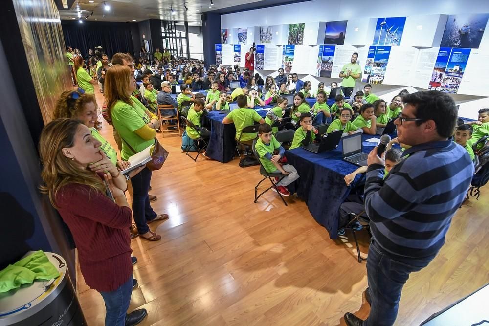
[[367,281],[370,288],[370,314],[363,326],[390,326],[396,321],[402,287],[411,272],[420,271],[431,260],[391,259],[370,241],[367,260]]

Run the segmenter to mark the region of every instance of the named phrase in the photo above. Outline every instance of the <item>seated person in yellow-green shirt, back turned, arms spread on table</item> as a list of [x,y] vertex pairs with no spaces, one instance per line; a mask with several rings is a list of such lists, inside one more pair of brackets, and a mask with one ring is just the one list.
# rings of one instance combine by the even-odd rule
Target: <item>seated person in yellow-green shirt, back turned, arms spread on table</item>
[[[244,95],[239,95],[236,99],[239,109],[232,110],[228,115],[222,120],[222,123],[227,125],[234,123],[236,127],[236,141],[240,140],[241,143],[246,145],[252,145],[253,139],[256,138],[256,133],[243,133],[242,130],[245,127],[254,125],[255,122],[265,123],[265,120],[256,113],[253,109],[246,108],[248,104],[248,99]],[[241,137],[241,139],[240,139]]]

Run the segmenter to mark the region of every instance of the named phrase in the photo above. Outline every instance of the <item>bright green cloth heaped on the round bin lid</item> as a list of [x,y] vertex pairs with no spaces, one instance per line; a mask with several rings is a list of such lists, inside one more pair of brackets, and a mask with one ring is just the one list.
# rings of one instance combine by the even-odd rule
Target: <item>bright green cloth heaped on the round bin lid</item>
[[51,280],[59,277],[58,269],[39,250],[0,271],[0,293],[21,287],[35,280]]

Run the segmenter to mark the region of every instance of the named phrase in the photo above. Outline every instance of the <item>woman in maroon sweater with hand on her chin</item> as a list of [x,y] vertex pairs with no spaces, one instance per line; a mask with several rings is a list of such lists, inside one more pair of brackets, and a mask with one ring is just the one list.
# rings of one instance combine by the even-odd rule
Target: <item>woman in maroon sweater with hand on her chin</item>
[[133,287],[131,209],[114,180],[120,172],[100,145],[77,120],[48,123],[39,142],[41,191],[49,195],[73,235],[85,282],[104,299],[105,325],[136,325],[147,312],[126,314]]

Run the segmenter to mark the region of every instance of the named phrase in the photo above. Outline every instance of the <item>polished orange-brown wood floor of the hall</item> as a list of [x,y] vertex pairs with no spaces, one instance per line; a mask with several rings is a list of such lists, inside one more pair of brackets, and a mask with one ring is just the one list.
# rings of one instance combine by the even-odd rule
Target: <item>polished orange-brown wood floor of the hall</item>
[[[111,126],[102,134],[115,145]],[[351,235],[329,239],[292,196],[288,207],[272,191],[253,203],[257,167],[196,163],[181,153],[178,137],[158,139],[170,156],[150,193],[158,196],[156,212],[170,219],[151,225],[160,241],[131,243],[139,287],[130,310],[148,310],[140,325],[345,325],[345,312],[368,316],[366,263],[356,260]],[[396,325],[419,325],[489,282],[488,196],[486,187],[457,212],[439,255],[412,274]],[[366,255],[368,237],[359,234]],[[102,297],[78,275],[85,317],[103,325]]]

